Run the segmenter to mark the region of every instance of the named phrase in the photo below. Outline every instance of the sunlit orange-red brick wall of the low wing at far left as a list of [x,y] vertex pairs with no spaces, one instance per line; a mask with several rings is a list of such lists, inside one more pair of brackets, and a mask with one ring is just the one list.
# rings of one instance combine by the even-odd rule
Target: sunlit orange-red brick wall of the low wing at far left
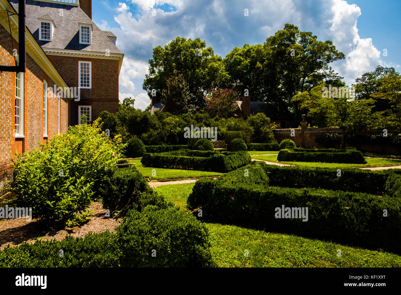
[[[14,39],[14,47],[18,43]],[[10,34],[0,26],[0,64],[14,65]],[[24,138],[14,137],[15,128],[15,73],[2,72],[0,74],[0,165],[15,157],[14,151],[24,153],[36,149],[43,137],[43,80],[53,87],[54,82],[49,79],[43,69],[26,55],[26,73],[24,73]],[[66,132],[67,101],[61,102],[61,128]],[[49,139],[57,134],[58,104],[52,92],[48,93],[48,135]]]

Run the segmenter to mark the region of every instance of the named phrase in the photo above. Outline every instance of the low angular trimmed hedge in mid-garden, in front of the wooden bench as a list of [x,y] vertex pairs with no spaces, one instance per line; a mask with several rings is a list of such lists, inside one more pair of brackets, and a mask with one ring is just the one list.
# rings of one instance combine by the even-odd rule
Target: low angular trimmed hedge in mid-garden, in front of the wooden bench
[[212,152],[179,150],[170,153],[144,154],[144,167],[229,172],[251,163],[245,151]]

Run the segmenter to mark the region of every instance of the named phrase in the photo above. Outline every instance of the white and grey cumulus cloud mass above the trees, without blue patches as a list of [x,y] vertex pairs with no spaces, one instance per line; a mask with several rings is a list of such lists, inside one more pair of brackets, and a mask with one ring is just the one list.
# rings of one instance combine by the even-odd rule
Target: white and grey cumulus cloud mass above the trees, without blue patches
[[[245,9],[249,16],[244,15]],[[117,35],[117,46],[125,53],[120,73],[122,92],[135,94],[141,100],[146,94],[135,85],[142,85],[152,49],[177,36],[199,37],[225,57],[235,46],[263,43],[288,22],[302,31],[311,31],[318,40],[333,41],[346,59],[332,66],[348,85],[362,73],[385,64],[373,40],[358,35],[360,8],[344,0],[130,0],[120,2],[115,12],[119,27],[109,28],[107,22],[102,22],[101,27]],[[146,96],[143,105],[148,104]]]

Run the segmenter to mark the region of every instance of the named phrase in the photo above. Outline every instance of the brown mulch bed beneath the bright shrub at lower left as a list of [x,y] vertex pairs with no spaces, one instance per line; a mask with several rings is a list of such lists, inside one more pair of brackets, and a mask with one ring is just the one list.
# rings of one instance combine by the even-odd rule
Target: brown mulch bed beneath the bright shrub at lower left
[[65,228],[63,226],[49,226],[32,219],[27,222],[25,218],[6,219],[0,221],[0,250],[7,245],[16,246],[22,242],[33,243],[36,238],[43,240],[62,240],[67,234],[73,237],[83,237],[89,232],[100,233],[105,230],[115,232],[120,220],[106,217],[106,211],[99,202],[92,202],[89,209],[93,210],[90,220],[82,226]]

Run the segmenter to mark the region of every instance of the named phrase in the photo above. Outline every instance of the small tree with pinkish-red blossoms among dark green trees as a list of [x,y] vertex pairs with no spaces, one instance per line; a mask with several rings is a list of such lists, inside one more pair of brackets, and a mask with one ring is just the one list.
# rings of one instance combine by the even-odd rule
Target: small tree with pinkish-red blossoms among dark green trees
[[236,101],[239,99],[239,92],[227,88],[212,89],[204,99],[206,112],[211,117],[230,118],[238,108]]

